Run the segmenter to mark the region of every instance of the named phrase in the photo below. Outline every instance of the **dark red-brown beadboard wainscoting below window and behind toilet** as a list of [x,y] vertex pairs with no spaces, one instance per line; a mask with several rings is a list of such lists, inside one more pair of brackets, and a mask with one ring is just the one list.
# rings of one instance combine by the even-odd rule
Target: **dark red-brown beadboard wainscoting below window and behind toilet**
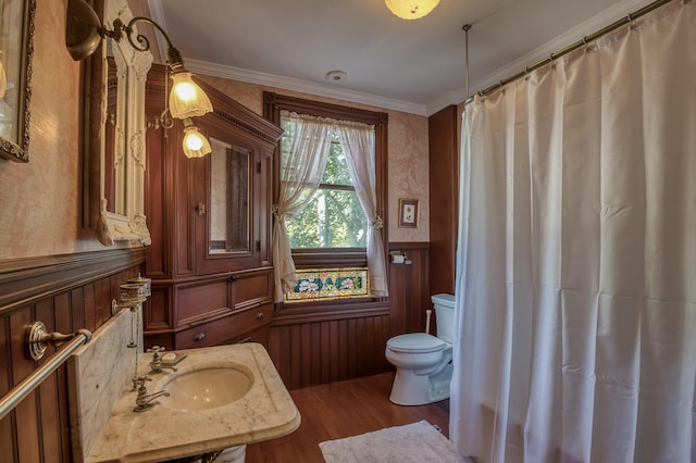
[[399,242],[389,249],[406,252],[410,263],[389,264],[388,301],[289,305],[275,312],[269,351],[288,389],[388,372],[387,340],[425,328],[432,305],[428,245]]

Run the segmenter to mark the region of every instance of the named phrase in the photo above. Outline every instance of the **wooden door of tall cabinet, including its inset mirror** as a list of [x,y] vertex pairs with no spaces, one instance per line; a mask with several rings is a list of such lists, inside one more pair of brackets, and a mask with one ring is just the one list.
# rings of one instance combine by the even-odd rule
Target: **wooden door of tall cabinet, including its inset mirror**
[[221,128],[203,123],[212,152],[195,160],[195,253],[198,275],[259,267],[266,220],[259,149]]

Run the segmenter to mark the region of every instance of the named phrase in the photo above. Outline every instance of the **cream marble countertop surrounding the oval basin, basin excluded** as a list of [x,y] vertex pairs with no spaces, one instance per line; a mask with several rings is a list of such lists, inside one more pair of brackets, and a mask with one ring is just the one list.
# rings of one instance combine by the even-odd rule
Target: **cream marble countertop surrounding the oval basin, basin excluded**
[[[202,411],[166,408],[162,403],[134,412],[136,391],[126,391],[111,411],[88,462],[154,462],[212,452],[293,433],[300,414],[275,366],[261,345],[239,343],[179,350],[188,356],[176,366],[150,374],[148,393],[162,389],[173,376],[192,370],[229,364],[253,374],[251,389],[227,405]],[[152,354],[144,354],[139,374],[147,374]],[[158,399],[156,399],[158,401]]]

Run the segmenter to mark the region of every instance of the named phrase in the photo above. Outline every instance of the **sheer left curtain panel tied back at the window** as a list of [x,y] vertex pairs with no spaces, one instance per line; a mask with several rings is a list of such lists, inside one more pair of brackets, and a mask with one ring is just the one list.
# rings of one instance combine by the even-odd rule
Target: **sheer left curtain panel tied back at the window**
[[281,157],[281,187],[278,203],[274,205],[273,274],[275,278],[275,302],[291,291],[297,283],[293,250],[287,239],[285,218],[299,214],[312,198],[321,183],[328,148],[332,125],[320,117],[281,112],[281,121],[288,121]]

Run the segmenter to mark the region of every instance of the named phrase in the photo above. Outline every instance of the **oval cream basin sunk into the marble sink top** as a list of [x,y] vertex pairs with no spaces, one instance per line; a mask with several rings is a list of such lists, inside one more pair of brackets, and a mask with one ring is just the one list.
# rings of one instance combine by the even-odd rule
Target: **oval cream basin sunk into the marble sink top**
[[209,410],[243,398],[252,384],[251,375],[241,368],[215,366],[175,375],[162,389],[170,397],[160,402],[170,409]]

